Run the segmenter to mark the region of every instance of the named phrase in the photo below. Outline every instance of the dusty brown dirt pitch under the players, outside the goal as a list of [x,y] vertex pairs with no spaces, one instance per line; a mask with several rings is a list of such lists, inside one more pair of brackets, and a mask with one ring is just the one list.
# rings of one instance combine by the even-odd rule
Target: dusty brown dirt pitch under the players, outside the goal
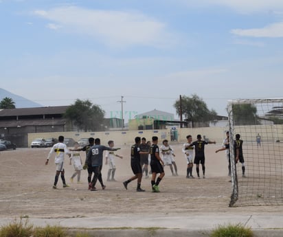
[[[124,159],[116,159],[117,182],[107,182],[107,166],[102,170],[106,190],[87,190],[87,171],[82,171],[82,184],[70,184],[73,166],[65,162],[65,177],[69,188],[53,190],[55,165],[54,157],[49,165],[45,160],[49,148],[19,148],[0,153],[0,217],[29,216],[34,218],[72,218],[121,216],[124,214],[253,214],[282,213],[282,206],[228,207],[231,183],[227,177],[225,154],[214,153],[219,145],[206,146],[206,179],[185,179],[186,161],[181,153],[181,145],[174,145],[179,169],[179,177],[172,177],[169,167],[161,181],[160,193],[150,192],[150,179],[143,179],[142,188],[146,192],[136,192],[136,181],[124,189],[122,181],[132,176],[129,147],[119,151]],[[84,153],[81,153],[84,160]],[[195,167],[194,167],[194,175]]]

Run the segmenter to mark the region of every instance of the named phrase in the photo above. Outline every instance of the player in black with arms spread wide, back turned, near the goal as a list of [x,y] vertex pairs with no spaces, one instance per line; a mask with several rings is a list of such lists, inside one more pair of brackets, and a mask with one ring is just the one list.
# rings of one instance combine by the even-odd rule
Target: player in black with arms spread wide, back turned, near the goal
[[196,174],[199,177],[199,163],[203,169],[203,179],[205,179],[205,145],[207,144],[216,144],[216,142],[205,142],[201,139],[201,135],[196,136],[197,141],[192,142],[190,146],[194,146],[194,163],[196,164]]

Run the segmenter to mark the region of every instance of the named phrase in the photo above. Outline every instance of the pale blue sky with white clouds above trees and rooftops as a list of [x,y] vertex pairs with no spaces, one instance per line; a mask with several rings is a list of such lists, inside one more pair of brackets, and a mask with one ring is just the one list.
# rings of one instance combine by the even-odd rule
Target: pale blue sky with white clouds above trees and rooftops
[[0,0],[0,29],[0,87],[43,106],[282,97],[282,0]]

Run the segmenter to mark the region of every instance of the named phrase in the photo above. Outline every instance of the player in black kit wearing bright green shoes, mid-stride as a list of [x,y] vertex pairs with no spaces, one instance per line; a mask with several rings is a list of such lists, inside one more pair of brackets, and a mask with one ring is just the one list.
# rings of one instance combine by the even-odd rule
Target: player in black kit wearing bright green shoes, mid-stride
[[[152,145],[150,146],[150,168],[152,172],[151,186],[152,192],[159,192],[159,183],[163,179],[165,173],[163,170],[164,162],[159,156],[158,137],[152,137]],[[159,177],[156,179],[157,174]]]

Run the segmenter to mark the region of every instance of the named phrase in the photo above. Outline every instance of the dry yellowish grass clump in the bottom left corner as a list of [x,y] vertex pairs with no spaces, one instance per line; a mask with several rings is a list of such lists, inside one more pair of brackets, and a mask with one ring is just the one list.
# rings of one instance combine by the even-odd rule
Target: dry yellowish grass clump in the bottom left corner
[[30,237],[33,228],[33,225],[30,225],[27,219],[25,221],[22,218],[18,221],[15,219],[12,223],[1,227],[0,237]]

